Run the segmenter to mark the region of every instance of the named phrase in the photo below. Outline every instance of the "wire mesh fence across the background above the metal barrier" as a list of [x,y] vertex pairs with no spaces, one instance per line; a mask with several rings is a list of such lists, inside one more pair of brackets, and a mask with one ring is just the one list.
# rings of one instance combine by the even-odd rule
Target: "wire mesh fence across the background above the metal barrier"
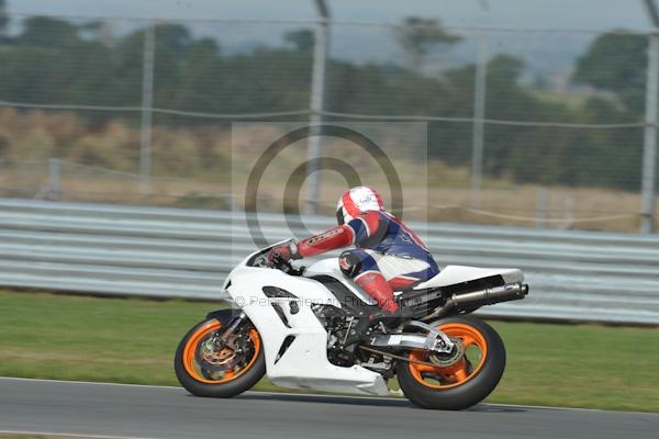
[[4,196],[242,209],[232,123],[315,116],[427,123],[427,156],[396,140],[428,169],[412,217],[636,232],[649,215],[645,34],[331,22],[312,111],[315,21],[8,18]]

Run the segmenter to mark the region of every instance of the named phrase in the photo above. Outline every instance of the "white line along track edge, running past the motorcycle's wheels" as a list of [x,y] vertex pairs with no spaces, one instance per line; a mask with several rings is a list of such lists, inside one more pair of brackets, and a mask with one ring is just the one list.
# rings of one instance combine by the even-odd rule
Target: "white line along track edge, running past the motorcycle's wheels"
[[[92,385],[111,385],[111,386],[124,386],[124,387],[150,387],[150,389],[167,389],[174,391],[182,391],[182,387],[174,385],[153,385],[153,384],[124,384],[124,383],[103,383],[93,381],[69,381],[69,380],[45,380],[45,379],[33,379],[33,378],[12,378],[12,376],[0,376],[0,382],[7,381],[33,381],[33,382],[48,382],[48,383],[65,383],[65,384],[92,384]],[[323,398],[351,398],[351,399],[364,399],[364,401],[403,401],[400,397],[387,397],[387,396],[364,396],[364,395],[327,395],[317,393],[290,393],[290,392],[259,392],[249,391],[245,392],[247,395],[267,395],[267,396],[302,396],[302,397],[323,397]],[[547,410],[579,410],[579,412],[607,412],[599,408],[581,408],[581,407],[555,407],[546,405],[520,405],[520,404],[481,404],[487,407],[513,407],[513,408],[535,408],[535,409],[547,409]],[[640,413],[647,414],[647,412],[625,412],[625,413]],[[66,436],[66,435],[60,435]],[[85,436],[82,436],[85,437]],[[94,438],[93,436],[87,436],[88,438]],[[108,436],[101,436],[100,438],[109,438]],[[126,437],[121,437],[125,439]],[[131,438],[133,439],[133,438]],[[136,438],[144,439],[144,438]]]

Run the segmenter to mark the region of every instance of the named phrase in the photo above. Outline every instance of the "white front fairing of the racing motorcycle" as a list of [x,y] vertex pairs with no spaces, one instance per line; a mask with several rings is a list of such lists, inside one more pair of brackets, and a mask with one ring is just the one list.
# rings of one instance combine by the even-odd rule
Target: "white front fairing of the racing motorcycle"
[[[327,333],[311,305],[340,307],[330,290],[313,279],[288,275],[271,268],[249,267],[248,261],[254,255],[228,274],[224,290],[258,330],[270,381],[283,387],[388,395],[387,383],[379,373],[360,365],[335,365],[327,360]],[[336,263],[336,259],[334,261]],[[317,272],[327,274],[321,267],[328,267],[328,262],[316,267]],[[264,286],[280,288],[299,297],[299,311],[291,309],[288,304],[280,306],[288,326],[272,307],[272,300],[266,296]],[[294,337],[294,340],[283,354],[279,354],[288,337]]]

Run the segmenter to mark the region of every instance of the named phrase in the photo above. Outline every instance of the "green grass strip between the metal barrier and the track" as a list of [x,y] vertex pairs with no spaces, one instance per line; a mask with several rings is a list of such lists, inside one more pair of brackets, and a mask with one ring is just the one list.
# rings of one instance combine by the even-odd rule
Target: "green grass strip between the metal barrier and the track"
[[[178,341],[216,307],[0,292],[0,375],[178,385]],[[659,329],[492,325],[509,361],[488,402],[659,412]]]

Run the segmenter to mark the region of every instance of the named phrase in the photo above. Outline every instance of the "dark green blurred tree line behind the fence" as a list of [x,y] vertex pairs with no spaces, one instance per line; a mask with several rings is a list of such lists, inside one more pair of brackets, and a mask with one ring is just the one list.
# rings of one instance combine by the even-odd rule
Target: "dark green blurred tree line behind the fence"
[[[1,1],[1,0],[0,0]],[[2,15],[0,15],[2,16]],[[74,24],[34,16],[7,36],[0,20],[0,99],[15,102],[138,106],[144,30],[108,38],[102,23]],[[260,113],[309,106],[313,33],[291,31],[277,46],[225,54],[221,43],[179,24],[158,24],[155,106],[209,113]],[[332,112],[473,116],[474,66],[428,72],[425,57],[460,36],[436,20],[411,18],[394,33],[402,65],[330,59],[326,109]],[[646,37],[611,33],[594,40],[572,80],[593,92],[574,105],[520,85],[524,61],[489,60],[485,117],[518,122],[606,124],[643,119]],[[91,124],[115,113],[87,113]],[[135,123],[134,121],[132,123]],[[208,120],[159,115],[156,123],[209,125]],[[469,166],[472,125],[431,122],[429,156]],[[518,182],[637,190],[641,128],[580,130],[487,124],[484,168]],[[401,145],[404,148],[404,145]]]

